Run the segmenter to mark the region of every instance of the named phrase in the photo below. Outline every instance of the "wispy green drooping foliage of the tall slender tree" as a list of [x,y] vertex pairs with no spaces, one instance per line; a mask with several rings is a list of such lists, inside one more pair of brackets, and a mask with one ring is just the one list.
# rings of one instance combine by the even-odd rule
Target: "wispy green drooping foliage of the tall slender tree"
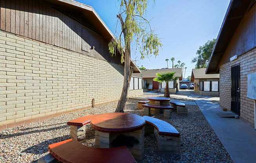
[[[120,13],[117,18],[121,24],[119,37],[113,39],[109,44],[110,54],[121,54],[121,63],[124,62],[123,49],[129,50],[131,43],[135,41],[136,49],[141,54],[141,59],[146,56],[159,54],[162,43],[154,30],[150,27],[150,22],[144,18],[149,0],[120,0]],[[123,35],[123,37],[122,37]],[[130,56],[130,54],[128,54]]]

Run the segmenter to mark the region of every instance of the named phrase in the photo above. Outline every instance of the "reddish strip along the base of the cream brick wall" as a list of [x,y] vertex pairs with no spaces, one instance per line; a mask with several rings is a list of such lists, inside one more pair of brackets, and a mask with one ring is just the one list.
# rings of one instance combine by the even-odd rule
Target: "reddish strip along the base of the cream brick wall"
[[[99,103],[96,106],[101,106],[101,105],[104,105],[106,103],[112,103],[112,102],[115,102],[117,100],[113,100],[113,101],[108,101],[108,102],[104,102],[104,103]],[[35,122],[42,122],[44,120],[48,120],[48,119],[51,119],[51,118],[54,118],[54,117],[58,117],[58,116],[61,116],[61,115],[64,115],[64,114],[69,114],[69,113],[73,113],[73,112],[79,112],[79,111],[82,111],[82,110],[85,110],[85,109],[90,109],[90,107],[84,107],[84,108],[80,108],[80,109],[74,109],[74,110],[69,110],[69,111],[66,111],[66,112],[58,112],[58,113],[55,113],[55,114],[51,114],[51,115],[47,115],[47,116],[42,116],[42,117],[37,117],[37,118],[33,118],[33,119],[29,119],[29,120],[24,120],[24,121],[18,121],[18,122],[15,122],[15,123],[8,123],[8,124],[5,124],[5,125],[0,125],[0,131],[1,130],[5,130],[5,129],[10,129],[10,128],[13,128],[13,127],[17,127],[17,126],[20,126],[20,125],[27,125],[29,123],[35,123]]]

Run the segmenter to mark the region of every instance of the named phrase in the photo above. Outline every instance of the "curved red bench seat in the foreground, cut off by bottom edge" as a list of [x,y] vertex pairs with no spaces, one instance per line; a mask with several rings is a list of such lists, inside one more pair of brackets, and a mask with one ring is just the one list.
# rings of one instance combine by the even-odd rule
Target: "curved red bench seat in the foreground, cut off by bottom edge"
[[51,144],[48,150],[62,163],[136,163],[126,147],[99,149],[82,145],[74,139]]

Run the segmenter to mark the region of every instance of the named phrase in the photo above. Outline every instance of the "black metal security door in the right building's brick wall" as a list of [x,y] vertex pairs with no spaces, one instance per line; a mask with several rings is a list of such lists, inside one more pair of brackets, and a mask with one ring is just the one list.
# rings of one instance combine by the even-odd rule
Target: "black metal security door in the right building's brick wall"
[[231,67],[231,111],[240,115],[240,65]]

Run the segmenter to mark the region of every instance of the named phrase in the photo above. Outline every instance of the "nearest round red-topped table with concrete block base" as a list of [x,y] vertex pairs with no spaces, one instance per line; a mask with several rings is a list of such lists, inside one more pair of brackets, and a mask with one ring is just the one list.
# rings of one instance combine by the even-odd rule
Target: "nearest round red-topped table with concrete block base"
[[126,147],[137,160],[144,156],[144,125],[144,118],[132,113],[99,114],[91,120],[96,147],[112,148],[120,138],[122,143],[125,139],[133,139],[132,147]]

